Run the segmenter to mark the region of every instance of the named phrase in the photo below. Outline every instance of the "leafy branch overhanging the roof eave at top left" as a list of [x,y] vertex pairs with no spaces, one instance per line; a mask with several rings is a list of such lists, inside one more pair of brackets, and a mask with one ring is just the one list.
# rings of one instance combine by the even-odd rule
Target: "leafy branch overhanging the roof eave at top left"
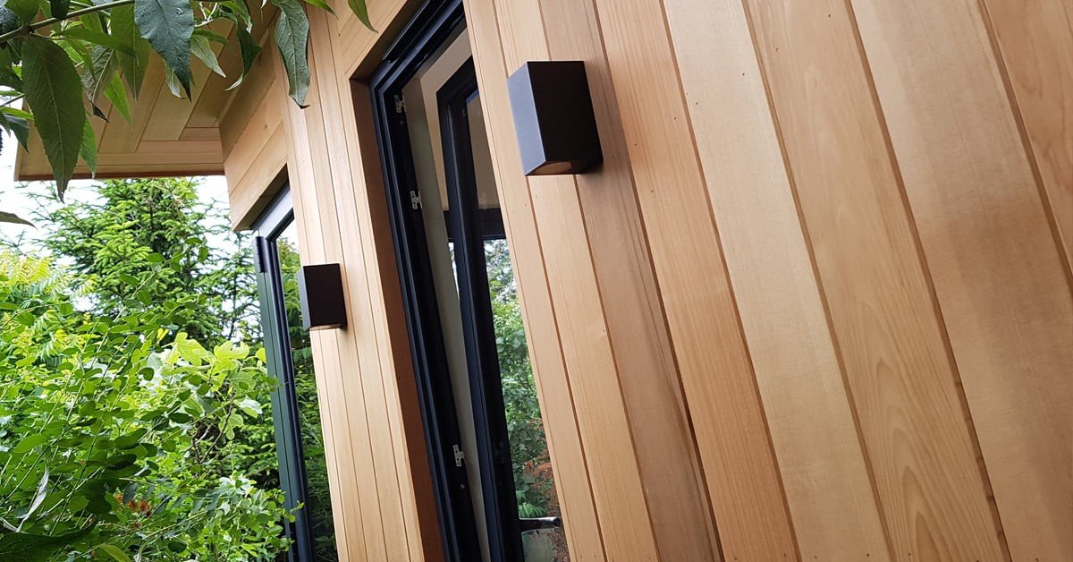
[[[310,82],[304,3],[332,11],[323,0],[271,0],[279,9],[276,44],[298,105]],[[365,0],[348,5],[372,29]],[[196,87],[191,55],[223,75],[211,44],[237,47],[237,85],[261,53],[253,21],[246,0],[6,0],[0,6],[0,97],[6,100],[0,129],[25,147],[33,121],[62,199],[79,158],[97,168],[90,119],[104,118],[98,104],[107,99],[130,121],[129,98],[137,99],[151,53],[163,59],[172,93],[189,99]],[[227,26],[235,27],[236,45],[220,32]],[[14,106],[23,100],[30,112]],[[0,221],[17,220],[0,215]]]

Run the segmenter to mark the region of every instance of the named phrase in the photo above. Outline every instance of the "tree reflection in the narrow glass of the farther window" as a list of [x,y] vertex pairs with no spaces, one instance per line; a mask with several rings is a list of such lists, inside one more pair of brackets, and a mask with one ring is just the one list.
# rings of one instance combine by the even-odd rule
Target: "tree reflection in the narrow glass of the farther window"
[[294,359],[295,393],[298,398],[298,416],[302,420],[302,447],[306,460],[308,502],[305,506],[313,530],[313,556],[319,561],[337,561],[335,527],[332,521],[332,500],[328,492],[327,462],[324,456],[324,434],[313,376],[313,356],[309,332],[302,328],[302,309],[298,305],[297,272],[300,265],[298,250],[290,229],[276,244],[283,277],[283,301],[286,305],[286,325]]

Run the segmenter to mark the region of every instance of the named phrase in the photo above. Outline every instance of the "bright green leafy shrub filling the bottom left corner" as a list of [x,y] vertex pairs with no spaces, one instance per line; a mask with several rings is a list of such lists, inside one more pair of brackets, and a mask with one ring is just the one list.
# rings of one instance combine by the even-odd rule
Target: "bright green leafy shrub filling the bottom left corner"
[[281,494],[240,472],[274,384],[259,354],[171,337],[159,307],[79,311],[47,259],[0,253],[0,548],[271,560]]

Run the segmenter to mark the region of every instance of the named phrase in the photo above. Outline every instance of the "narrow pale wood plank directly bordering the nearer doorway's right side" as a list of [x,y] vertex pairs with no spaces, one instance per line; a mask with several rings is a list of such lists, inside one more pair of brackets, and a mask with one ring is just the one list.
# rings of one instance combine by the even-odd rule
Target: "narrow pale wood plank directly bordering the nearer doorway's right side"
[[[525,177],[514,172],[521,169],[521,162],[517,150],[510,144],[515,142],[510,106],[502,102],[508,99],[503,80],[505,67],[495,8],[487,0],[466,0],[465,5],[485,126],[494,153],[499,201],[503,206],[503,222],[518,283],[529,356],[545,420],[570,556],[576,560],[604,560],[601,527],[582,448],[572,389],[567,379],[528,184]],[[489,103],[489,100],[500,102]]]

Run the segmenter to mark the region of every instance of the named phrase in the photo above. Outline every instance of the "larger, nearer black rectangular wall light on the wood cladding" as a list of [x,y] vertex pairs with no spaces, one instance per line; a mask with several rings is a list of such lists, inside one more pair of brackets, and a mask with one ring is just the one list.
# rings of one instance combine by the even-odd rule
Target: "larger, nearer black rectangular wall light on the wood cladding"
[[506,87],[526,175],[579,174],[603,160],[585,62],[526,62]]

